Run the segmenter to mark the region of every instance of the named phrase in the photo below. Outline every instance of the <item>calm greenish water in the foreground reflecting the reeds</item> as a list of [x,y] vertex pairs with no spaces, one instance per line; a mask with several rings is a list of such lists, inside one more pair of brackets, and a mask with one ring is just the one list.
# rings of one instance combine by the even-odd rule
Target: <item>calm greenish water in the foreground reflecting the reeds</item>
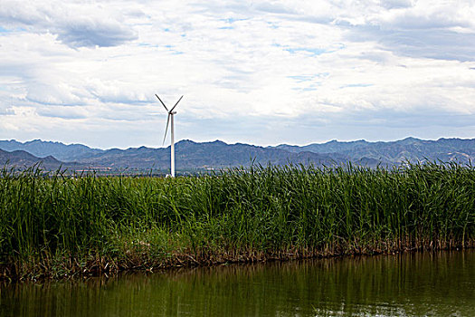
[[474,316],[475,251],[0,286],[1,316]]

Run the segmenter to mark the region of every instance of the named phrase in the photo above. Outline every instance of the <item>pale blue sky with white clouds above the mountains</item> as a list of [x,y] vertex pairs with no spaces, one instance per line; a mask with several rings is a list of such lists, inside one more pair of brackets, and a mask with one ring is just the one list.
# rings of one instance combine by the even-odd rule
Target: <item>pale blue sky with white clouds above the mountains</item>
[[[11,1],[0,139],[475,138],[475,1]],[[166,140],[165,146],[169,144]]]

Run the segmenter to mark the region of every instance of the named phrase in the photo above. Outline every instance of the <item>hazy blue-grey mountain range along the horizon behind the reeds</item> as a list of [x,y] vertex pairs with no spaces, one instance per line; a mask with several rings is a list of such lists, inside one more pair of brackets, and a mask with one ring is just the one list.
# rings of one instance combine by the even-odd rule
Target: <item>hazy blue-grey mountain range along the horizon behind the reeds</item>
[[[0,140],[0,164],[18,167],[43,161],[44,168],[169,168],[168,148],[92,149],[82,144],[34,139],[27,142]],[[424,140],[407,138],[390,142],[368,142],[364,139],[341,142],[313,143],[306,146],[281,144],[260,147],[250,144],[227,144],[220,140],[176,143],[177,170],[196,168],[226,168],[266,165],[315,164],[333,165],[351,161],[375,167],[391,166],[403,161],[458,161],[467,164],[475,158],[475,139]]]

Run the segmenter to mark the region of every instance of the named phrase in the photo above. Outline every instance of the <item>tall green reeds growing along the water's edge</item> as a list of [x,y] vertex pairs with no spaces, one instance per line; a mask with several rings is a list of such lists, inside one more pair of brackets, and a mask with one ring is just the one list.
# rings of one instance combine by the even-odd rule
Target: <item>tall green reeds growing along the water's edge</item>
[[473,245],[475,170],[253,167],[190,178],[0,178],[5,276]]

